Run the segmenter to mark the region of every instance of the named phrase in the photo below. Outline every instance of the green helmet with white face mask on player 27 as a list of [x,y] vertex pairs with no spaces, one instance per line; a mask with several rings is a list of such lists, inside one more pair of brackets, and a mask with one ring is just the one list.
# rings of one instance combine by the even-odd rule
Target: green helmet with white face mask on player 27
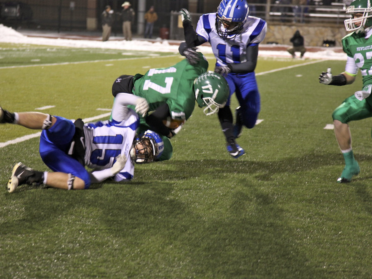
[[[347,7],[346,13],[350,15],[350,19],[344,21],[346,31],[364,33],[365,29],[372,26],[371,0],[352,1],[350,6]],[[356,13],[361,13],[363,16],[354,18]]]

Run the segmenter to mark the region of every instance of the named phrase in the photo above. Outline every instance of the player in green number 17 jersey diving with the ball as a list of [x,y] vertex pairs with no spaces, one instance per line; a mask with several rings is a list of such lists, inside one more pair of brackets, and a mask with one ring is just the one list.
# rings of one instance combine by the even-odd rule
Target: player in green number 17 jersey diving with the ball
[[[190,59],[178,62],[167,68],[154,68],[135,76],[122,75],[112,85],[112,94],[132,93],[143,97],[149,104],[149,112],[142,115],[139,132],[150,129],[161,135],[164,151],[158,160],[169,160],[172,146],[169,138],[174,137],[191,116],[195,101],[205,107],[204,113],[211,115],[223,108],[229,94],[227,81],[220,74],[206,72],[208,61],[200,52],[199,57],[190,64]],[[194,57],[195,58],[195,57]],[[164,124],[167,118],[181,121],[177,128]]]

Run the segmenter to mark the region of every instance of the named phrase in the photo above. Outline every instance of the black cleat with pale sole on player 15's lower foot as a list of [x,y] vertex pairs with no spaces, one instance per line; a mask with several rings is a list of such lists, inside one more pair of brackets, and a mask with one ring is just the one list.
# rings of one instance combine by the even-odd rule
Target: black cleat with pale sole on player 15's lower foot
[[38,179],[35,178],[36,171],[26,167],[22,163],[17,163],[13,167],[12,176],[8,182],[8,192],[12,193],[14,190],[23,184],[31,185],[34,182],[39,182]]

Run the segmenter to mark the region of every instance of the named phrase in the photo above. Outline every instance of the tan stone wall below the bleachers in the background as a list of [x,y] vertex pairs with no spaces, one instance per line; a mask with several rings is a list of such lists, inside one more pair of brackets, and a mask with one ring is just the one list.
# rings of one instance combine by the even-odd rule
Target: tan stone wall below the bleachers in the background
[[347,35],[345,27],[342,25],[324,27],[314,25],[279,25],[274,23],[267,24],[266,38],[263,43],[277,42],[278,44],[291,45],[289,39],[293,34],[299,30],[301,35],[304,36],[305,46],[321,47],[323,40],[335,40],[336,47],[341,46],[341,39]]

